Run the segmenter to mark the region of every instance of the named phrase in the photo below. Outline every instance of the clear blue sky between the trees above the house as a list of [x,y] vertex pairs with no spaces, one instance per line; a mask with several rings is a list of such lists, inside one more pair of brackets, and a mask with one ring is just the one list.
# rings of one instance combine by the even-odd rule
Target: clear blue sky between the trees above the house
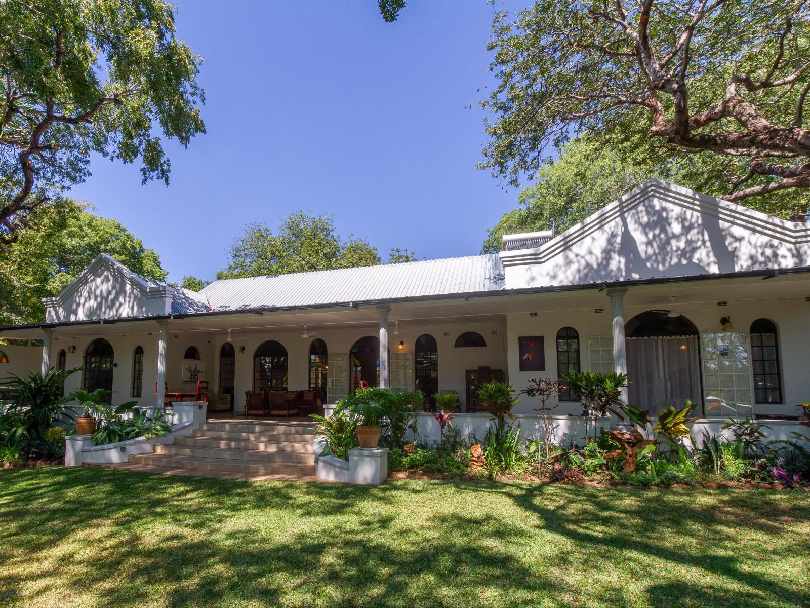
[[483,0],[410,0],[394,24],[376,0],[176,3],[178,36],[205,60],[207,134],[168,146],[168,188],[98,157],[68,193],[143,238],[169,280],[213,279],[246,223],[275,229],[299,208],[334,214],[383,259],[395,246],[431,259],[477,254],[516,206],[475,169],[475,104],[495,83]]

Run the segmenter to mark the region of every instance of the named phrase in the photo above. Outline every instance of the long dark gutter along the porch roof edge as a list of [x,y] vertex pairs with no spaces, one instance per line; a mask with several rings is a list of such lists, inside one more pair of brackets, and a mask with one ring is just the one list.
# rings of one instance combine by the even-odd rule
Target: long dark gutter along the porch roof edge
[[131,323],[134,321],[179,321],[181,319],[200,319],[203,317],[224,315],[263,315],[266,312],[288,312],[291,310],[329,310],[334,308],[360,308],[360,306],[382,306],[386,304],[401,304],[407,302],[441,302],[445,300],[469,300],[471,298],[492,298],[509,295],[533,295],[541,293],[567,293],[575,291],[588,291],[597,289],[603,291],[616,287],[637,287],[642,285],[662,285],[667,283],[692,283],[701,280],[723,280],[734,278],[749,278],[761,276],[762,279],[771,279],[776,276],[793,274],[807,274],[810,266],[796,268],[773,268],[767,270],[746,270],[740,272],[726,272],[723,275],[695,275],[695,276],[660,276],[650,279],[614,280],[597,283],[583,283],[581,285],[551,285],[546,287],[522,287],[518,289],[497,289],[492,291],[474,291],[467,293],[443,293],[428,296],[415,296],[410,298],[387,298],[379,300],[362,300],[360,302],[330,302],[326,304],[296,304],[295,306],[255,306],[238,310],[211,310],[203,312],[183,313],[180,315],[151,315],[142,317],[125,317],[122,319],[88,319],[83,321],[58,321],[54,323],[28,323],[26,325],[2,325],[0,333],[20,329],[47,329],[64,328],[81,325],[113,325],[115,323]]

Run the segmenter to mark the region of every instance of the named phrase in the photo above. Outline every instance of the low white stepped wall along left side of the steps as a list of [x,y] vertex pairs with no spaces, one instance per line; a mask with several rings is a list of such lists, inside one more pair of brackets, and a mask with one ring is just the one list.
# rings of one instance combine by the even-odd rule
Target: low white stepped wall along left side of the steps
[[164,437],[128,439],[117,443],[94,445],[92,435],[69,435],[65,438],[65,466],[79,466],[85,462],[120,463],[126,462],[135,454],[149,454],[156,445],[173,443],[175,437],[186,437],[199,428],[206,420],[205,401],[185,401],[173,403],[174,418],[172,430]]

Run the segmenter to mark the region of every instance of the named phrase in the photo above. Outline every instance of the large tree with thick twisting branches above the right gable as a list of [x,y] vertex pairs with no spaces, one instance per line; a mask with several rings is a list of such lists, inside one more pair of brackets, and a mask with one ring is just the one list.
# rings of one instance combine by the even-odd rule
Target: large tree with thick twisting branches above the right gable
[[701,156],[726,199],[787,192],[807,213],[808,3],[538,0],[493,31],[481,167],[517,185],[571,136],[608,133]]

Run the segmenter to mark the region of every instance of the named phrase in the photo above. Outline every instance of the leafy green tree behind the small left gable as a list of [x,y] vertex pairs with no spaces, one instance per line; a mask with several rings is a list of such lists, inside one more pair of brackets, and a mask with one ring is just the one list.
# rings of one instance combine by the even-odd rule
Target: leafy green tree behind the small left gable
[[34,212],[32,227],[19,232],[14,247],[0,251],[0,323],[36,323],[45,309],[41,298],[56,295],[96,255],[106,253],[127,268],[164,280],[160,258],[120,222],[61,199]]

